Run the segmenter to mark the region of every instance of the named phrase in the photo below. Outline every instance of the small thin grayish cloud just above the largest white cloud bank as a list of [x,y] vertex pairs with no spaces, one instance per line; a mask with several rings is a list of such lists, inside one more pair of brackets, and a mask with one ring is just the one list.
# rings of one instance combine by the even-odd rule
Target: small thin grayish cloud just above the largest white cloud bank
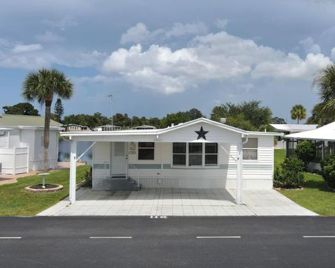
[[121,34],[121,45],[126,43],[150,43],[157,40],[166,40],[181,36],[196,36],[198,34],[206,34],[208,31],[204,22],[195,23],[174,23],[168,29],[156,29],[150,31],[142,22],[137,23],[134,27],[129,28],[126,33]]

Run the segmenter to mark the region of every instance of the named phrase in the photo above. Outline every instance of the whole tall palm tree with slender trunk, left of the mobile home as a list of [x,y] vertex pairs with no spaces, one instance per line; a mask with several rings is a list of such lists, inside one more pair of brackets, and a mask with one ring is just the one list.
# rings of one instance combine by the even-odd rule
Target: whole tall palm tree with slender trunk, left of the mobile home
[[52,100],[54,96],[64,99],[71,98],[73,95],[73,84],[61,71],[42,68],[27,75],[22,89],[22,96],[25,100],[37,101],[41,105],[45,105],[44,170],[47,170]]

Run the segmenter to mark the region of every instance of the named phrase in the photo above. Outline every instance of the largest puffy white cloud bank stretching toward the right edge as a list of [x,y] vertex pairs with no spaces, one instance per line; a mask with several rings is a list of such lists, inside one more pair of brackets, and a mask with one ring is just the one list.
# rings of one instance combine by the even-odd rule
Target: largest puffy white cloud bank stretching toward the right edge
[[122,75],[135,87],[172,94],[208,81],[241,77],[311,80],[313,73],[329,62],[329,57],[320,53],[301,59],[221,31],[197,36],[188,47],[174,51],[160,45],[150,45],[147,50],[140,44],[128,50],[120,48],[105,59],[102,70],[104,75]]

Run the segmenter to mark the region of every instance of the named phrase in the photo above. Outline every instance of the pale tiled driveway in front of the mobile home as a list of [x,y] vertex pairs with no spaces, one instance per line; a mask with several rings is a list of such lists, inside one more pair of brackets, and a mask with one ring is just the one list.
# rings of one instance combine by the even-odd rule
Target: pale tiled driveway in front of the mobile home
[[128,191],[77,191],[77,201],[62,200],[38,216],[316,216],[275,190],[244,191],[235,204],[230,189],[144,188]]

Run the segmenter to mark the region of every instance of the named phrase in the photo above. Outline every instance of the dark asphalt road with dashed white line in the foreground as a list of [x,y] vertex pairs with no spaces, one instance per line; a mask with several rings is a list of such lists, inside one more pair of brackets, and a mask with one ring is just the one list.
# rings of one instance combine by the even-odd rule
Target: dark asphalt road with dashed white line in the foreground
[[335,218],[0,218],[0,267],[334,268]]

